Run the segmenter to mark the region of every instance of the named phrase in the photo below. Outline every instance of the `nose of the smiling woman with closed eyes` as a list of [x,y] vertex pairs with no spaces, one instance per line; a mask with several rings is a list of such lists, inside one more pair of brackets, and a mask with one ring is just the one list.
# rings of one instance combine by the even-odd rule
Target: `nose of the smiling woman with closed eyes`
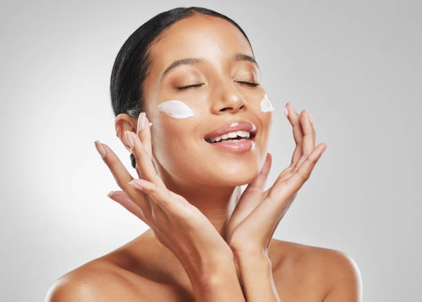
[[237,113],[244,110],[246,102],[243,95],[237,90],[235,83],[230,79],[222,79],[218,84],[219,87],[212,95],[214,102],[212,103],[212,113]]

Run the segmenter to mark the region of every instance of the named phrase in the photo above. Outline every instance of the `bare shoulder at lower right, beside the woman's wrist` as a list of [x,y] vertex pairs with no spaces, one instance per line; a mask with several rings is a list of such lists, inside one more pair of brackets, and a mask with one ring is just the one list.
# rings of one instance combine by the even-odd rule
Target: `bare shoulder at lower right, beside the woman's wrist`
[[281,292],[305,287],[308,294],[297,294],[296,301],[361,301],[361,274],[351,256],[336,249],[273,240],[274,283]]

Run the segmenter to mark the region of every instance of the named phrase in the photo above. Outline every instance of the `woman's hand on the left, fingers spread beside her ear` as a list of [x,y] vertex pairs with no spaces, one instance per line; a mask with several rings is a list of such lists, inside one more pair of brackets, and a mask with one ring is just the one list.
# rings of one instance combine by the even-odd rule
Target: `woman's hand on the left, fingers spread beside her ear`
[[209,275],[216,263],[232,260],[232,250],[197,207],[165,187],[152,164],[149,121],[140,116],[138,129],[142,125],[143,129],[137,134],[123,133],[123,140],[136,159],[139,179],[132,178],[110,147],[95,142],[123,190],[109,196],[149,225],[157,239],[179,259],[188,275]]

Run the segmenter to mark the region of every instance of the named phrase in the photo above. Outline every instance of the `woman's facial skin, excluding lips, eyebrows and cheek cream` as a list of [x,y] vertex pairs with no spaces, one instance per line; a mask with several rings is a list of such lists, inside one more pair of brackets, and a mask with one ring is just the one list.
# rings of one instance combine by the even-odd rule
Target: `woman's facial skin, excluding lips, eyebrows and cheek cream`
[[[143,89],[145,113],[152,122],[154,163],[161,177],[217,187],[252,181],[265,160],[272,113],[261,110],[265,89],[258,67],[248,59],[233,59],[253,57],[243,34],[224,19],[197,15],[170,26],[152,46],[151,55]],[[173,62],[186,58],[201,62],[181,64],[163,75]],[[179,89],[194,84],[198,86]],[[168,100],[185,103],[193,116],[175,118],[159,111],[157,106]],[[205,140],[221,126],[241,121],[256,127],[247,151],[222,149]]]

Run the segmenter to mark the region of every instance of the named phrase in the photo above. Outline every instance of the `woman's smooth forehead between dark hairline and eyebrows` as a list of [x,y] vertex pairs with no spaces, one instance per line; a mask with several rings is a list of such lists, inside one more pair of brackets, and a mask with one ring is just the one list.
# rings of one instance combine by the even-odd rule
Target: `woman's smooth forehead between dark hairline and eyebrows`
[[234,24],[220,17],[194,15],[172,24],[153,44],[151,71],[159,76],[185,57],[203,57],[219,65],[234,53],[253,57],[248,40]]

